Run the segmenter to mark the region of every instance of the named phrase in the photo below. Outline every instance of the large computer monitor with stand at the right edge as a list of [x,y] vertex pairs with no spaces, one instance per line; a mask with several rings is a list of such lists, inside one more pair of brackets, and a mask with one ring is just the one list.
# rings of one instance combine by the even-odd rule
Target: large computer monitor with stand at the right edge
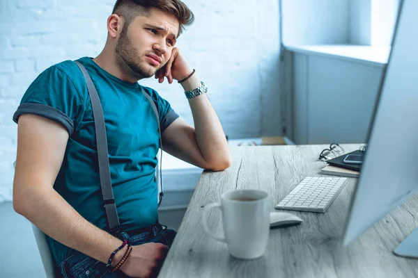
[[[418,1],[404,0],[353,196],[343,244],[418,190]],[[395,254],[418,258],[418,229]]]

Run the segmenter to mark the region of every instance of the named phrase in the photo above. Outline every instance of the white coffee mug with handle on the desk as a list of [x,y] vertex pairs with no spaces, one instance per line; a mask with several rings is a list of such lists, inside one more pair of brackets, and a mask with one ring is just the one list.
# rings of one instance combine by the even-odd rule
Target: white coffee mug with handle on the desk
[[[222,211],[224,237],[208,229],[208,213],[212,208]],[[216,240],[228,245],[229,254],[238,259],[256,259],[265,253],[270,234],[270,200],[262,190],[243,189],[224,193],[220,204],[203,208],[203,228]]]

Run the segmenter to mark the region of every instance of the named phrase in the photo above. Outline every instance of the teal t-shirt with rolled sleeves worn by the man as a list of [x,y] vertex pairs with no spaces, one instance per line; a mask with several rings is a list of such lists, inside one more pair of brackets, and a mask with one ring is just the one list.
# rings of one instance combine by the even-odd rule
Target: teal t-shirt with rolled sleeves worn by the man
[[[91,58],[80,58],[93,80],[104,114],[111,183],[122,231],[157,223],[155,166],[160,146],[158,122],[141,88],[155,102],[161,131],[178,115],[150,88],[116,78]],[[95,143],[93,111],[86,81],[77,65],[67,60],[49,67],[25,92],[13,120],[31,113],[59,122],[70,138],[54,189],[86,220],[107,229]],[[56,263],[75,250],[52,238]]]

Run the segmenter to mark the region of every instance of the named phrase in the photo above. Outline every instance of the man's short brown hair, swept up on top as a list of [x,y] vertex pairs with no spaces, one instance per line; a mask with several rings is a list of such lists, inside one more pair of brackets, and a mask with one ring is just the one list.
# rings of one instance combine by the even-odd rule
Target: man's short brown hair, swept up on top
[[112,14],[124,17],[124,27],[127,28],[135,17],[148,14],[150,8],[160,9],[178,19],[180,28],[177,36],[185,30],[185,26],[194,22],[192,11],[180,0],[117,0]]

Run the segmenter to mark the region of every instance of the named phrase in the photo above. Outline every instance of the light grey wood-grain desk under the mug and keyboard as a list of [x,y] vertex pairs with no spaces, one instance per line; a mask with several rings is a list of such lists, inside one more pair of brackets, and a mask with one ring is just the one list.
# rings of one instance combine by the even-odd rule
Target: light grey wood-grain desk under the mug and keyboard
[[[243,261],[226,244],[206,236],[202,208],[219,202],[235,188],[260,188],[270,193],[271,211],[304,177],[319,176],[317,161],[327,145],[235,147],[233,165],[224,172],[203,172],[178,235],[159,277],[418,277],[418,260],[395,256],[392,250],[418,227],[418,195],[396,208],[349,247],[341,246],[350,197],[357,179],[350,179],[326,213],[293,212],[304,222],[273,229],[266,253]],[[359,145],[343,145],[346,152]],[[325,177],[325,176],[324,176]],[[212,211],[209,227],[221,231],[220,211]]]

